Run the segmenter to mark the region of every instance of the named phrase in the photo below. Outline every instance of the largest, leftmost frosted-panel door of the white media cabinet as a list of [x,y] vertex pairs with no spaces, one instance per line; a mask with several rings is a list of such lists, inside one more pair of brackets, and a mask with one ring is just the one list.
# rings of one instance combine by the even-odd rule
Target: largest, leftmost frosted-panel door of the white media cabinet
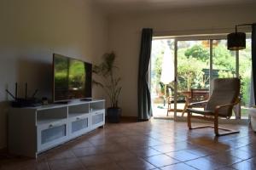
[[67,141],[67,120],[38,125],[38,152]]

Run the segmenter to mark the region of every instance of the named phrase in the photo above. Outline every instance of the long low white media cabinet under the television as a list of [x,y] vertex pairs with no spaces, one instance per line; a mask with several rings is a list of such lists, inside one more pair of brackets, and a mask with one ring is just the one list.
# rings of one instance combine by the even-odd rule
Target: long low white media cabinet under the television
[[9,153],[37,157],[38,153],[104,126],[105,100],[11,108],[8,120]]

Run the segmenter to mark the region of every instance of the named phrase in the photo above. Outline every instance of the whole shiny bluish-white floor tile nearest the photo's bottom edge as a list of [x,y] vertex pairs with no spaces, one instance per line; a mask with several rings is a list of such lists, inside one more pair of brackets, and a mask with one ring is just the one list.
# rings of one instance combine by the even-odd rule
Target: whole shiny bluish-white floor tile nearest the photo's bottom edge
[[150,156],[145,158],[146,161],[148,161],[149,163],[153,164],[155,167],[164,167],[167,165],[172,165],[174,163],[177,163],[179,161],[173,159],[170,156],[166,156],[166,155],[157,155],[157,156]]

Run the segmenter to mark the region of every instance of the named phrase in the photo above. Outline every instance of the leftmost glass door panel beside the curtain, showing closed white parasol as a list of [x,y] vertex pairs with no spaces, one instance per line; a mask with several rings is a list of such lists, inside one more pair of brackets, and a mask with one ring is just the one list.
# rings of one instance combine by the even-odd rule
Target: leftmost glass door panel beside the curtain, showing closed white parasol
[[173,117],[174,39],[154,39],[150,62],[153,116]]

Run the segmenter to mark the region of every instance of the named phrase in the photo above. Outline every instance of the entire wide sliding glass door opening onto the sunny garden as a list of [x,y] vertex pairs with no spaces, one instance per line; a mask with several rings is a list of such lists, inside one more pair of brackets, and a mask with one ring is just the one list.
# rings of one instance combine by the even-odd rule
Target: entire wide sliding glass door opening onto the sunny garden
[[250,39],[247,48],[239,52],[227,49],[225,37],[154,39],[149,69],[154,116],[187,116],[190,102],[208,99],[213,78],[240,77],[241,105],[236,106],[234,115],[247,117],[251,60]]

